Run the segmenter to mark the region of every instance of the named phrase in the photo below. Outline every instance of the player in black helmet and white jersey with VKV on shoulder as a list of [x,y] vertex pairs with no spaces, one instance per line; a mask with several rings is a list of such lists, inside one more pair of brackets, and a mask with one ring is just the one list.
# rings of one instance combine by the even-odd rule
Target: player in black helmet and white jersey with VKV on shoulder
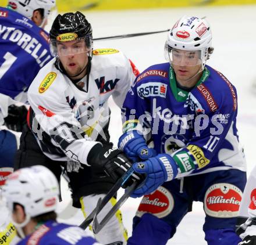
[[[137,70],[116,49],[93,51],[91,25],[80,12],[58,15],[50,38],[56,59],[40,70],[29,88],[30,129],[22,134],[16,168],[45,165],[59,179],[63,166],[73,206],[87,216],[123,174],[115,164],[130,167],[109,142],[108,98],[112,95],[122,106]],[[101,214],[114,203],[112,199]],[[95,237],[104,244],[126,243],[120,211]]]

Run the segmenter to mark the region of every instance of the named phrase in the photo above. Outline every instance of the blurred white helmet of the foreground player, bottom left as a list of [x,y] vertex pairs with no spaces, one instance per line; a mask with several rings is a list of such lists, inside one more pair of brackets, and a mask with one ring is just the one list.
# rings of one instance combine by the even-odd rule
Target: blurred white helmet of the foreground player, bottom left
[[9,210],[13,210],[14,203],[21,204],[29,219],[55,211],[58,195],[59,185],[55,175],[42,165],[13,172],[2,187],[2,196]]

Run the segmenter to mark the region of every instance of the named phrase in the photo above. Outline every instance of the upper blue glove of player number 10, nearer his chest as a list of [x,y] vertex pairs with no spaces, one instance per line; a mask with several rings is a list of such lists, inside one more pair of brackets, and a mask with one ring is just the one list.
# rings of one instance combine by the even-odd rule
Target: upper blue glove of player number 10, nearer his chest
[[143,136],[136,131],[129,131],[120,136],[118,147],[123,150],[126,156],[133,160],[133,162],[138,161],[138,157],[141,160],[147,160],[157,155],[154,149],[148,148]]

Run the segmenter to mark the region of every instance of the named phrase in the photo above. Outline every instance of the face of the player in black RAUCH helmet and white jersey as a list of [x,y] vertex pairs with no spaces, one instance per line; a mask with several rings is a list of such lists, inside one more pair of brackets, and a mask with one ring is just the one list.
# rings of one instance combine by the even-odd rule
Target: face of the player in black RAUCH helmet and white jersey
[[86,74],[84,67],[88,63],[88,48],[84,41],[59,42],[57,44],[57,52],[67,75],[74,77],[84,70],[79,77],[74,78],[84,77]]

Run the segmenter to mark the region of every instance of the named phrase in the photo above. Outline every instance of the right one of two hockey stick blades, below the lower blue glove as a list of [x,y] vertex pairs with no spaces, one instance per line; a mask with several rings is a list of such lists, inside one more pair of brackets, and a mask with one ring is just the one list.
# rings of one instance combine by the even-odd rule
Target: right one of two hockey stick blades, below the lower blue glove
[[[138,184],[137,181],[134,181],[131,186],[126,188],[125,194],[123,194],[123,196],[120,197],[120,199],[115,204],[115,206],[111,208],[111,210],[108,212],[108,214],[106,214],[106,216],[102,219],[100,223],[98,222],[98,219],[97,219],[98,212],[100,211],[100,209],[98,209],[98,211],[94,215],[94,221],[93,221],[94,234],[99,233],[99,231],[106,225],[109,219],[111,219],[111,217],[115,215],[115,213],[119,210],[119,208],[123,205],[123,203],[125,203],[125,201],[129,198],[130,194],[134,191],[134,189],[137,188],[137,184]],[[97,206],[98,207],[101,206],[100,200],[98,200]]]

